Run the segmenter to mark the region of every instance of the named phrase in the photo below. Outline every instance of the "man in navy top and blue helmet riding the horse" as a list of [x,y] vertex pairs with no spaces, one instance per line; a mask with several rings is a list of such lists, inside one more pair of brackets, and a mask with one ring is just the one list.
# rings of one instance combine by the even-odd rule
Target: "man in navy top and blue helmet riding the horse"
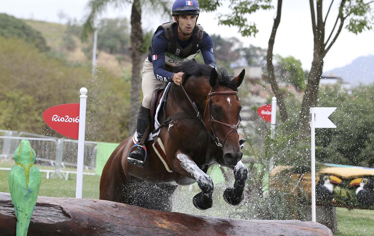
[[144,166],[147,127],[151,122],[151,97],[153,91],[163,88],[165,83],[182,84],[183,72],[172,73],[173,67],[181,60],[193,58],[200,51],[205,64],[216,68],[213,56],[212,38],[203,31],[196,21],[200,8],[196,0],[176,0],[172,7],[174,22],[160,25],[153,35],[148,57],[144,60],[142,71],[143,100],[138,113],[138,148],[131,152],[128,162]]

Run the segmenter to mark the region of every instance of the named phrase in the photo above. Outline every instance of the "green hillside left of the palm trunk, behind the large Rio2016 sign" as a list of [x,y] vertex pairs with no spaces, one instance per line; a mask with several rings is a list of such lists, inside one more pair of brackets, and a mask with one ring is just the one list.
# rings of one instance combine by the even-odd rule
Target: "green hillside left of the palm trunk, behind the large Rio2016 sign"
[[26,24],[6,14],[0,19],[0,130],[60,137],[42,114],[52,106],[79,102],[84,86],[89,91],[87,140],[120,142],[127,137],[130,73],[124,73],[115,55],[99,52],[104,63],[98,63],[92,77],[89,52],[84,52],[90,42],[82,44],[68,34],[67,25]]

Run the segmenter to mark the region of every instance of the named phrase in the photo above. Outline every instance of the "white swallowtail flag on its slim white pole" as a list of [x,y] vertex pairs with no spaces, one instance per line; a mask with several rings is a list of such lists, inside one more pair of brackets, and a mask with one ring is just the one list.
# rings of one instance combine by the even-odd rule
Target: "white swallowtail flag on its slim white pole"
[[312,221],[316,222],[316,147],[315,128],[336,128],[328,118],[336,107],[311,107],[310,108],[310,151],[312,154]]

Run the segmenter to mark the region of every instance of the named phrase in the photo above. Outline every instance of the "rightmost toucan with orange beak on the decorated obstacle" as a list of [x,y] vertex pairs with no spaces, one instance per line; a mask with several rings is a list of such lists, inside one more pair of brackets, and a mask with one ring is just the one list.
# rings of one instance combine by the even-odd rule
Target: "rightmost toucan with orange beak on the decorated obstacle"
[[356,200],[359,204],[367,207],[374,205],[373,182],[370,178],[356,178],[349,183],[349,187],[357,186]]

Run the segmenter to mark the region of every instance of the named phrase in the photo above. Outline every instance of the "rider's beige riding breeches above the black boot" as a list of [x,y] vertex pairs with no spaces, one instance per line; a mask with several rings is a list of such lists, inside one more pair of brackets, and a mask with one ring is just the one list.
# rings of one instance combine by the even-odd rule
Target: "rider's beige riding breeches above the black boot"
[[153,64],[146,58],[143,62],[143,73],[141,80],[141,90],[143,92],[143,101],[141,105],[145,108],[151,108],[153,91],[165,87],[167,82],[162,82],[154,77]]

